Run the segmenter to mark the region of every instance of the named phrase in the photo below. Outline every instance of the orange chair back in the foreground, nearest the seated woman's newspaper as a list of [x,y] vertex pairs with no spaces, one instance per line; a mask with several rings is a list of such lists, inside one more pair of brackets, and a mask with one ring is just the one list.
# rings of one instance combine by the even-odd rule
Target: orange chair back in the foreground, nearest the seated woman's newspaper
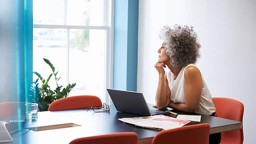
[[209,144],[209,124],[188,125],[157,133],[152,144]]

